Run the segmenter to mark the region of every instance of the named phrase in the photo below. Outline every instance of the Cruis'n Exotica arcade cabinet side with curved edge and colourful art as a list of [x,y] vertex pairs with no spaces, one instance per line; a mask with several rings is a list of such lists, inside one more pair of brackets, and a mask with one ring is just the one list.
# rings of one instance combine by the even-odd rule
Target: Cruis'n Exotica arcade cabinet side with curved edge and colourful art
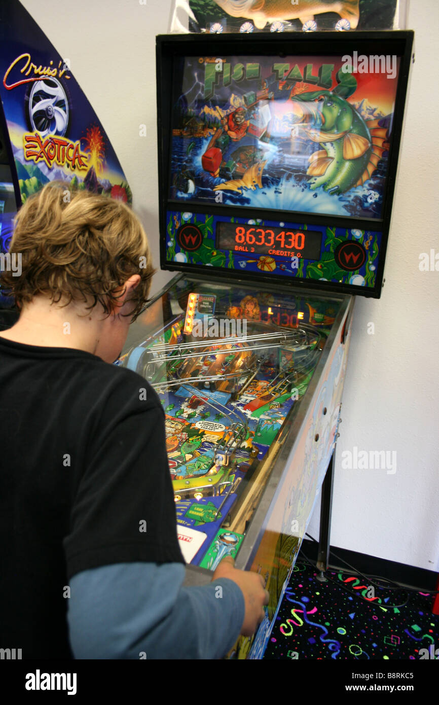
[[[131,202],[116,153],[70,61],[18,0],[1,8],[0,97],[1,253],[8,252],[17,209],[49,181]],[[0,307],[6,301],[0,291]]]

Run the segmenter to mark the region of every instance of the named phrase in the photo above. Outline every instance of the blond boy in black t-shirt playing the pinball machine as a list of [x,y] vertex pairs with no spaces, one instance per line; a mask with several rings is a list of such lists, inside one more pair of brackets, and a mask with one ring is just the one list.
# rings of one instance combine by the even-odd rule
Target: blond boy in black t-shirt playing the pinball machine
[[22,274],[2,277],[20,318],[0,333],[1,646],[221,658],[256,630],[268,593],[231,559],[210,585],[182,587],[163,410],[111,364],[154,273],[140,222],[48,184],[20,209],[10,250]]

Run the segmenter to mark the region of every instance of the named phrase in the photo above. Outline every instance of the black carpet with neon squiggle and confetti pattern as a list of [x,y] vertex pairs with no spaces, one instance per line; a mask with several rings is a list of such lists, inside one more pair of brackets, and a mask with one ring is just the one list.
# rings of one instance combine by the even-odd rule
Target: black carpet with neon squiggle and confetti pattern
[[[376,596],[367,598],[362,578],[328,571],[335,582],[322,583],[316,575],[315,568],[297,561],[264,658],[417,660],[420,649],[434,654],[439,648],[439,616],[431,613],[431,596],[375,588]],[[393,607],[407,596],[405,606]]]

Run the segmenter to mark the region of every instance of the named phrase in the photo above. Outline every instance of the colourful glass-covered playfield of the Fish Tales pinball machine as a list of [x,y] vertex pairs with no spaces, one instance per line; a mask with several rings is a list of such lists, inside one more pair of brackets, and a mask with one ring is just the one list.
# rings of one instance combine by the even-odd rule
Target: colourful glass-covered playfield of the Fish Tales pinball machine
[[130,327],[118,364],[163,405],[187,563],[236,555],[339,310],[338,298],[180,275]]

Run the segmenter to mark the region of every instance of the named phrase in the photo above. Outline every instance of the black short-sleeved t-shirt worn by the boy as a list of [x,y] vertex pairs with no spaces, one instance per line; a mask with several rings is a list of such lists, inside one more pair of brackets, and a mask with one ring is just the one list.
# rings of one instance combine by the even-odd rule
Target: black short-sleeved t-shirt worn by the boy
[[71,658],[68,580],[184,563],[164,412],[140,375],[0,338],[0,646]]

